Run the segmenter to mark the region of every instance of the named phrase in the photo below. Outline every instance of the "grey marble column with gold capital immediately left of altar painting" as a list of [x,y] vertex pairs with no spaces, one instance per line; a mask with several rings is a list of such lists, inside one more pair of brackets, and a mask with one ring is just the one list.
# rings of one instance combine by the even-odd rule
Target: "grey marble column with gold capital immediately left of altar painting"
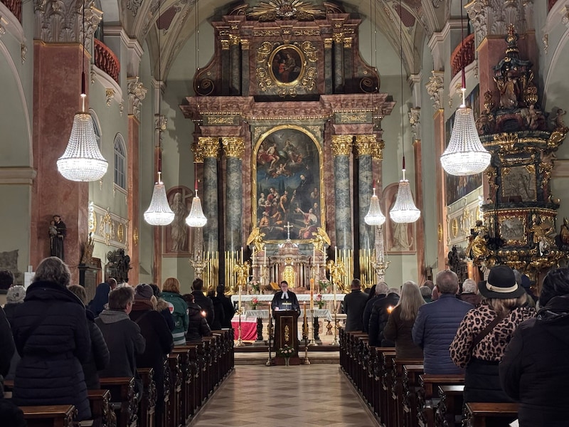
[[241,227],[243,225],[243,138],[221,138],[223,152],[227,157],[225,193],[225,251],[238,251],[243,246]]

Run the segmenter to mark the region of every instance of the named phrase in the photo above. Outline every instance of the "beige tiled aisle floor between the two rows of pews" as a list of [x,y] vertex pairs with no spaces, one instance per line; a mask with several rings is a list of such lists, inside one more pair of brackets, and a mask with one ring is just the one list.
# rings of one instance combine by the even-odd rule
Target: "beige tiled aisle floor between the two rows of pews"
[[191,427],[376,427],[337,364],[236,366]]

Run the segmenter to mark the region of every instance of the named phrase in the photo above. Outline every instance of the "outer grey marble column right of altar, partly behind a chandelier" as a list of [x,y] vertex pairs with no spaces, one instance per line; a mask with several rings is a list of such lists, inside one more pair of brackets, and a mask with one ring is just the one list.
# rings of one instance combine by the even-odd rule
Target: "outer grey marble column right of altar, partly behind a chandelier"
[[358,204],[360,250],[373,249],[373,229],[363,221],[369,211],[373,194],[373,168],[371,156],[376,149],[376,135],[356,135],[358,152]]

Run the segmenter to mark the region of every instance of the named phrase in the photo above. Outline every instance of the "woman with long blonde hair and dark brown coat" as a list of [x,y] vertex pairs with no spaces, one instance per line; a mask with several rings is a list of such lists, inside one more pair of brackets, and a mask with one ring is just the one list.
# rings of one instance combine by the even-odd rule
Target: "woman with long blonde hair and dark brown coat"
[[413,342],[411,331],[419,307],[424,304],[425,300],[422,299],[417,283],[403,283],[398,305],[389,315],[387,325],[383,329],[385,339],[395,342],[397,359],[422,360],[422,349]]

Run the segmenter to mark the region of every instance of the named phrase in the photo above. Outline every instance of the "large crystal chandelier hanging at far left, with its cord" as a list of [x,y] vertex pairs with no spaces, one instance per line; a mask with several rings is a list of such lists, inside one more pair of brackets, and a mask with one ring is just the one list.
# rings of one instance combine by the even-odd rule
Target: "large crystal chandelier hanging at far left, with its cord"
[[73,117],[73,127],[63,156],[58,159],[58,171],[70,181],[98,181],[107,172],[108,163],[99,150],[95,128],[89,112],[85,111],[85,3],[83,3],[83,71],[81,73],[81,111]]

